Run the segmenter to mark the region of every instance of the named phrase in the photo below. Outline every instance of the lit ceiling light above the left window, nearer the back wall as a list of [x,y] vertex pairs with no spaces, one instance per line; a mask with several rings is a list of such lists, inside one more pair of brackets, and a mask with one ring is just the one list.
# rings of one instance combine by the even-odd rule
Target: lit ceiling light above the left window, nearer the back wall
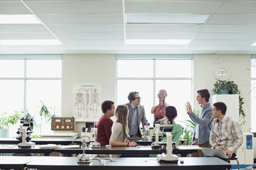
[[61,45],[59,40],[0,40],[1,45]]

